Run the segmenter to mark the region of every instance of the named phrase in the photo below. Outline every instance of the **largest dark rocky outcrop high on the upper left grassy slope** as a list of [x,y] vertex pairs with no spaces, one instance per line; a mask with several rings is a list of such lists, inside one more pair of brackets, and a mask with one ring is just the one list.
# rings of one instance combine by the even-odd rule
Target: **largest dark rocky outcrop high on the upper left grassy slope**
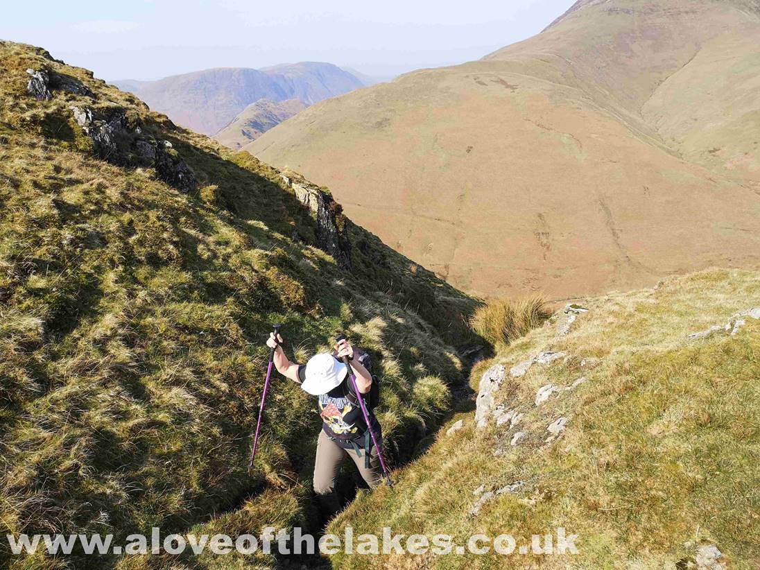
[[85,106],[72,106],[74,122],[93,142],[96,157],[118,166],[143,166],[156,169],[159,179],[191,192],[198,185],[192,169],[173,150],[169,141],[160,141],[144,131],[122,109],[96,112]]

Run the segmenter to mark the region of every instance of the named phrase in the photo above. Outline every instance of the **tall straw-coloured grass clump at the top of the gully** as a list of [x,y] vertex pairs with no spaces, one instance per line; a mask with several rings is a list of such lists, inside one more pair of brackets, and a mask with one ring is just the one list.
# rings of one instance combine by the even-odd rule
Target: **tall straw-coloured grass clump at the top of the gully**
[[505,345],[543,324],[551,312],[540,297],[497,299],[478,307],[470,326],[492,345]]

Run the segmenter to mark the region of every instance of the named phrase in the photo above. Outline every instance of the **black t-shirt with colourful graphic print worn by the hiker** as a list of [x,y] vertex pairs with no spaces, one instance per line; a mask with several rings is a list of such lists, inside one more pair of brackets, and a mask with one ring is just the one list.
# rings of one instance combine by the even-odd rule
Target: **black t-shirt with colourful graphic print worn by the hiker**
[[[319,395],[319,415],[322,418],[322,429],[327,435],[337,441],[337,444],[344,448],[352,448],[350,441],[363,437],[367,426],[364,422],[362,408],[356,398],[348,397],[350,388],[348,376],[337,388],[333,388],[327,394]],[[380,425],[375,418],[372,410],[369,412],[369,421],[372,422],[372,428],[375,434],[380,432]]]

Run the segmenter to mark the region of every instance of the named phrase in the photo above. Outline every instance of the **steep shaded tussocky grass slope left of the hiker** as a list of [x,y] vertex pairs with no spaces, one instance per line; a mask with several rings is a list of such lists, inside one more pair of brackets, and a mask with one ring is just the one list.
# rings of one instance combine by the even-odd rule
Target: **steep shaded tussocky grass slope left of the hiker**
[[[389,449],[435,423],[458,382],[450,344],[467,340],[472,299],[348,220],[354,269],[340,271],[309,245],[315,222],[277,171],[85,70],[14,43],[0,43],[0,67],[2,534],[122,540],[153,525],[254,530],[306,518],[318,416],[296,385],[274,380],[257,469],[245,471],[273,321],[301,359],[341,330],[375,351]],[[28,97],[25,70],[43,67],[97,98]],[[198,192],[92,157],[74,104],[126,109],[171,141]]]

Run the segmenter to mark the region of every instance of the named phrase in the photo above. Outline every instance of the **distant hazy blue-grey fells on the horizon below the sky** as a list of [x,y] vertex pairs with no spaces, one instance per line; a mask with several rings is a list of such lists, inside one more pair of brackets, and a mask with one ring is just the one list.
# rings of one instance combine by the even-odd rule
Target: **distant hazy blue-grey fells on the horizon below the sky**
[[173,75],[142,84],[135,94],[177,125],[211,136],[260,99],[299,99],[312,105],[359,87],[364,87],[362,81],[336,65],[301,62],[261,70],[214,68]]

